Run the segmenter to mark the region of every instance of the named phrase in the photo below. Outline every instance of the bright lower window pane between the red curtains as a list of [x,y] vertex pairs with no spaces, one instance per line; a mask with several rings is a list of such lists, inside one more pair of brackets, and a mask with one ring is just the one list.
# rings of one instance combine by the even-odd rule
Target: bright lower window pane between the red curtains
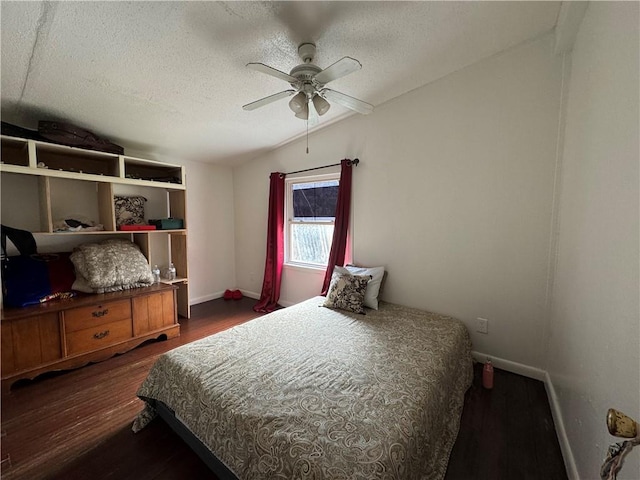
[[292,224],[290,260],[326,265],[332,238],[333,225]]

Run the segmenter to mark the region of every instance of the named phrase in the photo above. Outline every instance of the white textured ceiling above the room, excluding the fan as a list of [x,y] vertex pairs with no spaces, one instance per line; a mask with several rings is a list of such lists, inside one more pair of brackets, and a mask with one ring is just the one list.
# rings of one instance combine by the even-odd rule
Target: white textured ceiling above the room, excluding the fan
[[[66,120],[127,153],[232,163],[306,131],[287,100],[297,46],[322,68],[362,70],[332,89],[378,106],[554,28],[560,2],[9,2],[1,5],[2,120]],[[333,104],[322,128],[352,115]],[[357,114],[355,114],[357,115]],[[372,113],[372,115],[375,115]]]

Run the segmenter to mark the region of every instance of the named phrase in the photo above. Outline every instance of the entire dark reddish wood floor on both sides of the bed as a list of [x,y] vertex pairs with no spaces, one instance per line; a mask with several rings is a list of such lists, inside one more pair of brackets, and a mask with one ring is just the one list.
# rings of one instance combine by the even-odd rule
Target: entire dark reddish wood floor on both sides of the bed
[[[2,394],[2,479],[215,479],[161,420],[138,434],[138,386],[166,350],[257,316],[251,299],[214,300],[181,319],[181,336],[106,362],[41,377]],[[476,366],[447,480],[566,479],[542,382]]]

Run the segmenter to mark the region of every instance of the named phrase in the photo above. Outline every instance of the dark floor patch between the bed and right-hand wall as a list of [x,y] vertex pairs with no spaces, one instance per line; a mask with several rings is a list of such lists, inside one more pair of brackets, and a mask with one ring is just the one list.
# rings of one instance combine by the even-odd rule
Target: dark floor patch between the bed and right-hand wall
[[561,480],[567,473],[544,384],[495,369],[482,388],[475,365],[446,480]]

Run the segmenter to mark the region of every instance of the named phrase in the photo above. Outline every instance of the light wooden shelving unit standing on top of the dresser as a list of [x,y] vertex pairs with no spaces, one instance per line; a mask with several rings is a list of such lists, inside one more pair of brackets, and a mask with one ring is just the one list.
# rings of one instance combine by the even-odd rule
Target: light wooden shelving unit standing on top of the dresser
[[[0,136],[2,221],[46,239],[97,241],[127,236],[150,265],[176,267],[178,314],[189,318],[186,177],[181,165],[144,160],[47,142]],[[145,216],[182,218],[184,228],[123,232],[116,229],[114,195],[148,199]],[[56,220],[70,213],[104,226],[99,232],[56,232]],[[69,218],[69,217],[66,217]]]

